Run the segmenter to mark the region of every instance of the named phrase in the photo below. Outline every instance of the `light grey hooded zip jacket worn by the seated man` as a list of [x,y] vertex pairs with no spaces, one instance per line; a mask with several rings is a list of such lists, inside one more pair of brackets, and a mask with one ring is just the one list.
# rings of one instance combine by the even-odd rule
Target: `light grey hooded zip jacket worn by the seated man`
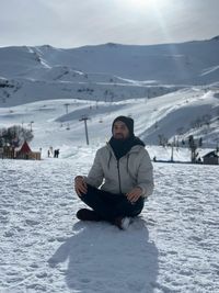
[[134,146],[117,160],[112,147],[106,144],[96,151],[93,166],[84,180],[111,193],[127,193],[140,187],[146,198],[153,191],[153,167],[143,146]]

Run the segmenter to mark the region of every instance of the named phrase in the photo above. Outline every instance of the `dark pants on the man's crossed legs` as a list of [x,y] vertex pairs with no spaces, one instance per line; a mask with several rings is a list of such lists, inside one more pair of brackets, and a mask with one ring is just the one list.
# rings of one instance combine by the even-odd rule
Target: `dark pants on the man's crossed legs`
[[80,199],[92,207],[101,218],[113,221],[117,216],[137,216],[143,209],[143,198],[130,203],[124,194],[113,194],[88,184],[88,192]]

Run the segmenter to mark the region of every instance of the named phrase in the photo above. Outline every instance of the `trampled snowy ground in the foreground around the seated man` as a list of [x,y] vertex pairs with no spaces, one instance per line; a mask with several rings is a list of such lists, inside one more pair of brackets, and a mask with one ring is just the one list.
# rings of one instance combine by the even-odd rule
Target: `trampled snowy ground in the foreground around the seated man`
[[0,161],[0,292],[219,292],[218,166],[153,164],[155,189],[122,232],[80,223],[68,159]]

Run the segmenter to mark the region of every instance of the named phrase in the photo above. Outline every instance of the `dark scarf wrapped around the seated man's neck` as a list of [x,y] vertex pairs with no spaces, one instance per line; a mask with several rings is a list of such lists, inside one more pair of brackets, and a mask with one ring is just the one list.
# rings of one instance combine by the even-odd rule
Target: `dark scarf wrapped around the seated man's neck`
[[113,148],[117,160],[125,156],[131,149],[131,147],[145,146],[143,142],[136,136],[130,136],[127,139],[116,139],[112,136],[108,144]]

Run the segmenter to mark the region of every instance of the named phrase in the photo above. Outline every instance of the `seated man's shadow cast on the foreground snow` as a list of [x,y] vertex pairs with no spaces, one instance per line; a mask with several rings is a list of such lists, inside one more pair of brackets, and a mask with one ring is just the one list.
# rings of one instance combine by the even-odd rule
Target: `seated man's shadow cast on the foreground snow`
[[158,249],[149,241],[146,222],[137,218],[123,232],[107,223],[73,225],[48,260],[56,268],[68,260],[66,282],[80,292],[152,293],[158,277]]

